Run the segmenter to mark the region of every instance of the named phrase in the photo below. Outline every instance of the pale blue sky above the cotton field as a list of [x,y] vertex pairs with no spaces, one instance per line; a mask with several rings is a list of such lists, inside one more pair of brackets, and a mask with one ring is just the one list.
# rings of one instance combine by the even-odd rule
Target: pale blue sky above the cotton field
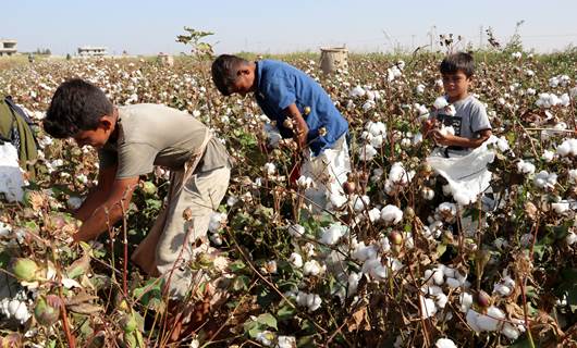
[[219,53],[343,44],[355,51],[408,50],[429,44],[430,32],[479,45],[480,26],[506,41],[521,20],[526,48],[548,52],[577,45],[572,0],[19,0],[3,1],[2,13],[0,38],[19,40],[21,51],[50,48],[57,54],[85,45],[119,54],[177,53],[187,50],[175,42],[184,26],[214,32],[210,41]]

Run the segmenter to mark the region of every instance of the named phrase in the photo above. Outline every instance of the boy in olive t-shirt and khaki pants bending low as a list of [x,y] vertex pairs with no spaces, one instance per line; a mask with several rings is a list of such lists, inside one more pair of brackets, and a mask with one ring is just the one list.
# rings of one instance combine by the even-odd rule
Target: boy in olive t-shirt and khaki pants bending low
[[193,275],[185,262],[204,237],[222,200],[231,163],[224,147],[186,112],[160,104],[115,108],[96,86],[71,79],[58,87],[44,127],[98,150],[98,186],[75,212],[83,221],[75,241],[97,238],[128,209],[140,175],[170,169],[168,203],[132,259],[162,276],[171,298],[182,299]]

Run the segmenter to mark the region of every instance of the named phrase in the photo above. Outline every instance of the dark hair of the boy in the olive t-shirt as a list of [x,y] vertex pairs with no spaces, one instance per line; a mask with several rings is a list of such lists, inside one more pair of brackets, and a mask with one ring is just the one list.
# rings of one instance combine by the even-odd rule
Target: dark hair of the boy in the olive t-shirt
[[103,115],[114,112],[105,92],[81,78],[61,84],[42,122],[46,133],[54,138],[71,138],[81,130],[94,130]]

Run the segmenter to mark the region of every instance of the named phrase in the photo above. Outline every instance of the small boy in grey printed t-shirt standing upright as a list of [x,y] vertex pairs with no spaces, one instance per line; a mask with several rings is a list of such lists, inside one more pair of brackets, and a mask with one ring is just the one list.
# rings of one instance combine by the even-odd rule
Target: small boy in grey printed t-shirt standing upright
[[[475,62],[469,53],[447,55],[440,65],[445,98],[455,108],[454,115],[444,114],[443,109],[433,111],[423,123],[425,136],[446,147],[445,157],[463,156],[479,147],[491,137],[491,124],[483,104],[469,95]],[[440,124],[452,126],[455,134],[438,129]]]

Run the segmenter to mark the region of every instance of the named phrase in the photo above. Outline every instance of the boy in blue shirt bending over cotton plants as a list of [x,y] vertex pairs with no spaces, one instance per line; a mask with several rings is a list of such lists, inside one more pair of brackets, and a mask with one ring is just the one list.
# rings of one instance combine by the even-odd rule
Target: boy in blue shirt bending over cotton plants
[[283,138],[293,137],[303,151],[300,175],[311,177],[305,190],[315,212],[326,208],[332,195],[343,195],[351,172],[346,136],[348,123],[329,95],[311,77],[286,63],[249,62],[222,54],[212,63],[212,80],[224,96],[249,92]]

